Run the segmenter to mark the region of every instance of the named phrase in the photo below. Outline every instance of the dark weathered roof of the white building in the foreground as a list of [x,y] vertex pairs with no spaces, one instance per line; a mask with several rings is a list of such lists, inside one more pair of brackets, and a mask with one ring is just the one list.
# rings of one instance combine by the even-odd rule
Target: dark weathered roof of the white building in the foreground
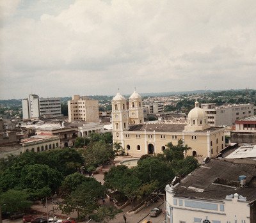
[[[210,160],[176,185],[173,188],[174,196],[220,201],[230,194],[237,193],[246,197],[246,201],[254,201],[255,164]],[[246,176],[246,187],[239,187],[241,175]]]

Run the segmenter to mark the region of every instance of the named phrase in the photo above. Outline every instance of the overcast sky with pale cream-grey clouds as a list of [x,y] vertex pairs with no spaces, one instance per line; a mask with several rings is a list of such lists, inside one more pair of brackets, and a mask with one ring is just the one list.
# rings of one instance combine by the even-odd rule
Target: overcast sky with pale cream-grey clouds
[[255,18],[255,0],[1,0],[0,98],[255,89]]

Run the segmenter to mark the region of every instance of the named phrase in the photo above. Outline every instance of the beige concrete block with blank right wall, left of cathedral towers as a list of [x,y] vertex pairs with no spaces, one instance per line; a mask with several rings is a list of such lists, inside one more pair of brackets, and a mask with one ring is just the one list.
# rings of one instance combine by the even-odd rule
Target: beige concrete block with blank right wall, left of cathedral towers
[[86,96],[74,95],[68,101],[68,121],[99,122],[99,102]]

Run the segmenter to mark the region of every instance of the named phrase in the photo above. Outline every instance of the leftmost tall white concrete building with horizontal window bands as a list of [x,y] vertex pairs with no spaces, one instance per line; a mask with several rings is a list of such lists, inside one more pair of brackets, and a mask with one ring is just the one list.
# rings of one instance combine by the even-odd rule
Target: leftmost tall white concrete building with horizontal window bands
[[54,118],[62,116],[60,98],[39,98],[29,95],[22,99],[23,119]]

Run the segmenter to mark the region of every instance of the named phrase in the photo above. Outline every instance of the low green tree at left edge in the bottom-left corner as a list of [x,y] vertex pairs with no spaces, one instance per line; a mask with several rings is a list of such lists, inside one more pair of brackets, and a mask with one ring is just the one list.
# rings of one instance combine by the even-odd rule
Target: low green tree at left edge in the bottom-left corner
[[28,201],[28,194],[20,190],[8,190],[3,194],[0,194],[0,206],[3,212],[24,212],[32,205],[31,201]]

